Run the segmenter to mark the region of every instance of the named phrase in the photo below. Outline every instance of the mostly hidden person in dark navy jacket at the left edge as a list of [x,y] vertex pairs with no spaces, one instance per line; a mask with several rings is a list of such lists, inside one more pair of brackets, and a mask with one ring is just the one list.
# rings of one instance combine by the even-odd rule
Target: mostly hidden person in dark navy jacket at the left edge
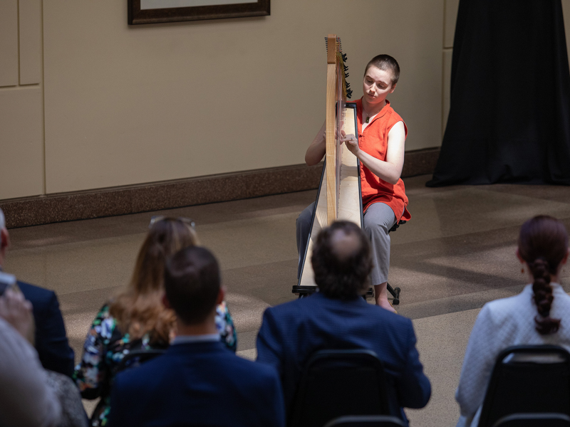
[[[0,271],[9,247],[10,235],[6,229],[4,212],[0,209]],[[29,300],[33,306],[33,318],[36,324],[34,342],[41,364],[45,369],[71,377],[73,349],[69,347],[66,337],[66,327],[59,310],[56,292],[24,282],[17,284],[26,300]]]

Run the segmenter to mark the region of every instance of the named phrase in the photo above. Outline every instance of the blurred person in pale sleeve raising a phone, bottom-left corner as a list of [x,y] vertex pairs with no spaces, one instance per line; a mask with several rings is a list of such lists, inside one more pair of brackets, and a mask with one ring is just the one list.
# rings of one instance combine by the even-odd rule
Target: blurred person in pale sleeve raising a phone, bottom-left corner
[[0,297],[0,426],[57,426],[61,405],[48,387],[33,334],[30,302],[17,290]]

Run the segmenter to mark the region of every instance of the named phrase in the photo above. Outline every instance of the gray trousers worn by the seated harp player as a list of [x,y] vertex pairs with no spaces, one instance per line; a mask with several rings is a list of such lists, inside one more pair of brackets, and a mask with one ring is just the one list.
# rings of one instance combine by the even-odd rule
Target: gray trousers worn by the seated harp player
[[[297,218],[297,251],[299,252],[299,268],[297,278],[301,275],[301,266],[305,256],[305,248],[311,231],[314,203],[299,214]],[[395,224],[396,218],[392,208],[384,203],[374,203],[364,214],[364,231],[372,243],[372,258],[374,267],[371,273],[372,285],[380,285],[388,281],[390,268],[390,235],[388,231]],[[307,260],[311,262],[311,260]]]

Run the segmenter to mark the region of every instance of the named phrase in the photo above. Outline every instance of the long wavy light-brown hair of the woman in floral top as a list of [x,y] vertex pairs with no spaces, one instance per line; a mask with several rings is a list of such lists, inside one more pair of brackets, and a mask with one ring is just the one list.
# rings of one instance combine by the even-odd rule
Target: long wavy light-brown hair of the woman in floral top
[[170,342],[176,316],[162,305],[165,263],[182,248],[197,246],[192,226],[175,218],[155,222],[142,243],[128,285],[110,302],[110,315],[130,339],[150,335],[150,343]]

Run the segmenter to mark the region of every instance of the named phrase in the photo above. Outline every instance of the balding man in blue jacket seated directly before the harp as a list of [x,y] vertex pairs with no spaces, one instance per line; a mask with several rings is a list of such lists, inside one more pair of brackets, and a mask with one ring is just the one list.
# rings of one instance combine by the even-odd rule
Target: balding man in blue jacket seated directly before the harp
[[406,420],[401,407],[425,406],[430,381],[415,348],[412,322],[361,297],[372,268],[366,235],[354,223],[333,223],[318,235],[311,263],[318,292],[265,311],[257,361],[279,371],[289,410],[301,370],[314,352],[371,349],[385,364],[390,413]]

